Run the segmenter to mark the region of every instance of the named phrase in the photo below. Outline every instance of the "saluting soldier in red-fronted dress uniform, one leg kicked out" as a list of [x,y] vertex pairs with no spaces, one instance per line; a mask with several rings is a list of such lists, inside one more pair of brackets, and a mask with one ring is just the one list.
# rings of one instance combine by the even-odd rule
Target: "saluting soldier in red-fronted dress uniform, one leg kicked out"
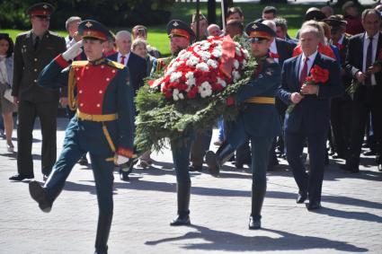
[[[83,40],[58,55],[39,77],[43,87],[58,89],[67,84],[68,103],[76,109],[76,116],[67,126],[62,153],[49,179],[43,187],[32,181],[29,188],[40,209],[48,213],[78,159],[90,153],[99,206],[95,240],[95,253],[99,254],[108,249],[114,164],[133,157],[133,91],[128,68],[102,55],[110,31],[88,20],[80,23],[78,32]],[[69,61],[81,53],[82,44],[88,61],[73,61],[70,65]]]

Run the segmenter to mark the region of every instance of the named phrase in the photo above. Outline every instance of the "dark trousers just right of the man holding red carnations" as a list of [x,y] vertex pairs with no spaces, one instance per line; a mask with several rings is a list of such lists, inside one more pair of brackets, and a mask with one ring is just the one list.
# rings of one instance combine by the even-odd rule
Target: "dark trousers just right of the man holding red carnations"
[[334,98],[331,107],[331,126],[335,152],[345,156],[351,139],[351,98]]

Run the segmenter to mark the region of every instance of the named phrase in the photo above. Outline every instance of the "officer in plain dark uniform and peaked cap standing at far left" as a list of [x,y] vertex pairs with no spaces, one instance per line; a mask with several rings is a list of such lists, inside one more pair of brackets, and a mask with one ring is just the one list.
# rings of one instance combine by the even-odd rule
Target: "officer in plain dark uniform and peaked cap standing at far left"
[[44,180],[56,162],[56,118],[59,93],[37,84],[40,71],[54,57],[66,50],[65,39],[48,31],[51,13],[53,13],[53,6],[50,4],[32,5],[28,9],[31,31],[19,34],[15,42],[12,95],[14,102],[19,105],[18,174],[10,180],[34,178],[31,143],[33,125],[37,117],[40,118],[41,125],[41,171]]

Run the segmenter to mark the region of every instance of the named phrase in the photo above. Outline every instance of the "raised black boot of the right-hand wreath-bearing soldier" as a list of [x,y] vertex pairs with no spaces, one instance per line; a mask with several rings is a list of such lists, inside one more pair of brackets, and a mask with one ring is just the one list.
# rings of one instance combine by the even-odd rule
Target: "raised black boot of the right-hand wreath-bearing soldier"
[[217,177],[220,173],[220,168],[227,162],[235,153],[235,149],[227,144],[226,141],[219,146],[217,153],[207,151],[205,161],[209,166],[209,173]]

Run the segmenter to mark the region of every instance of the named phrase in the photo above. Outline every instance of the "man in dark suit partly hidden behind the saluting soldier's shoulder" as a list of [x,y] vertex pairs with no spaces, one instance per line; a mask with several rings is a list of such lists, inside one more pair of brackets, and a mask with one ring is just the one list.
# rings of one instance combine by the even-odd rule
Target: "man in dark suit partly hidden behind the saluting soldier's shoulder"
[[[130,82],[133,86],[135,96],[138,89],[144,84],[143,79],[146,77],[147,68],[146,60],[130,51],[131,34],[129,31],[117,32],[115,42],[118,52],[108,58],[129,67]],[[120,168],[120,180],[129,180],[129,173],[132,169],[133,161],[130,162],[128,169],[122,170],[122,168]]]

